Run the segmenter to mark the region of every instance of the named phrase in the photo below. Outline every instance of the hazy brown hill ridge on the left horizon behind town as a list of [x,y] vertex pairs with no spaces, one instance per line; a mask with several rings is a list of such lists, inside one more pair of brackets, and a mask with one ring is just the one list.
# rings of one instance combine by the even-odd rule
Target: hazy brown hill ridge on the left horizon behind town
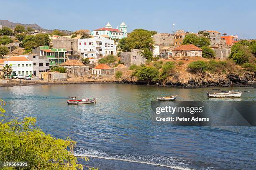
[[[42,27],[40,27],[39,25],[37,25],[36,23],[34,24],[22,24],[22,23],[13,23],[13,22],[10,22],[8,20],[0,20],[0,25],[3,25],[3,27],[8,27],[8,28],[12,28],[14,29],[16,25],[22,25],[24,26],[25,28],[26,27],[31,27],[35,30],[44,30],[44,31],[47,31],[47,32],[52,32],[54,30],[48,30],[48,29],[44,29]],[[60,30],[62,32],[65,32],[66,34],[72,34],[72,31],[69,31],[69,30]]]

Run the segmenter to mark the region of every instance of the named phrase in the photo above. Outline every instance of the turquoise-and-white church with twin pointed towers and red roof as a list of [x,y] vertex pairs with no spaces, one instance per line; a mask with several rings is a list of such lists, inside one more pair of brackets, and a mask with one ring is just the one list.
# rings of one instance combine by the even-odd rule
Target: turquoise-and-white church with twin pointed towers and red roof
[[97,36],[97,35],[107,35],[111,39],[118,38],[122,39],[124,37],[127,37],[127,25],[123,22],[119,25],[119,28],[113,29],[110,23],[105,25],[105,27],[98,28],[96,30],[93,30],[91,32],[91,35]]

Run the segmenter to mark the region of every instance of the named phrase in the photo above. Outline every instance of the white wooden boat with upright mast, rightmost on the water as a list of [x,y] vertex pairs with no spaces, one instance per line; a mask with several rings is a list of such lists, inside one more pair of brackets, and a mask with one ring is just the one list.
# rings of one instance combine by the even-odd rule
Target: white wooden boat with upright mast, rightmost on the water
[[208,97],[216,97],[216,98],[238,98],[241,97],[242,92],[241,91],[233,91],[233,85],[231,82],[231,90],[228,90],[228,92],[207,92],[206,93]]

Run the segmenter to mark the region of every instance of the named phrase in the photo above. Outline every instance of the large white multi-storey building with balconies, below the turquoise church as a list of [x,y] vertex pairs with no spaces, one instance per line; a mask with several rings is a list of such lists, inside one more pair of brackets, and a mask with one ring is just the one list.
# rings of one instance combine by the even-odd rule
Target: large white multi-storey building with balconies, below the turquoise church
[[116,55],[114,40],[105,36],[94,36],[93,38],[78,39],[78,51],[84,58],[100,58],[100,55]]

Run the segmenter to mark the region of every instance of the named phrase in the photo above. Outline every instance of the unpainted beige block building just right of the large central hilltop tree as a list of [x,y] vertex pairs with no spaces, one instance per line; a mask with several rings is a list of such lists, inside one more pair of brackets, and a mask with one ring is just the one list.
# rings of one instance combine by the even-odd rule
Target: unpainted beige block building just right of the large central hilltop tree
[[160,47],[166,47],[174,45],[174,35],[169,33],[157,33],[152,35],[154,38],[155,45]]

